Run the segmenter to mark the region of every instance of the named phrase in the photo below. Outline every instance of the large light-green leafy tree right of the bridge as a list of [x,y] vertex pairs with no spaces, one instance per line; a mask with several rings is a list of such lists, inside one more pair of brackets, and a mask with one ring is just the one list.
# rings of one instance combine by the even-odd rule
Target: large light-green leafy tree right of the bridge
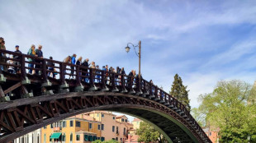
[[248,136],[256,142],[256,104],[248,104],[254,95],[244,81],[219,81],[212,93],[200,95],[195,113],[206,126],[220,127],[220,142],[248,142]]

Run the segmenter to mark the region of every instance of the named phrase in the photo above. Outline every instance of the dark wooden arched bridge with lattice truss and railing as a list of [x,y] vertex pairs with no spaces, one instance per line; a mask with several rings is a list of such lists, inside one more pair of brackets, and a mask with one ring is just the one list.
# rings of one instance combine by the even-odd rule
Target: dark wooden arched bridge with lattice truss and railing
[[[0,53],[5,55],[0,57],[0,65],[20,69],[16,74],[1,71],[0,142],[92,110],[140,118],[160,131],[168,142],[211,142],[182,103],[145,79],[139,81],[134,76],[6,50]],[[7,58],[8,55],[16,58]],[[28,58],[37,62],[29,62]],[[47,62],[55,66],[48,66]],[[28,67],[28,63],[40,68]],[[56,69],[55,78],[48,76],[52,72],[48,67]],[[40,71],[40,75],[27,74],[29,69]]]

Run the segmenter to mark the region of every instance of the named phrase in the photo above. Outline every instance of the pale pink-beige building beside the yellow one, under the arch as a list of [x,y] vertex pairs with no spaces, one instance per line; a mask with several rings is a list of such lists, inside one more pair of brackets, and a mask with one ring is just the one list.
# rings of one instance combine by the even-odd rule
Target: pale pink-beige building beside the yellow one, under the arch
[[125,142],[128,137],[128,130],[133,127],[125,115],[116,116],[107,111],[93,111],[85,114],[98,122],[102,122],[102,137],[106,141],[116,140]]

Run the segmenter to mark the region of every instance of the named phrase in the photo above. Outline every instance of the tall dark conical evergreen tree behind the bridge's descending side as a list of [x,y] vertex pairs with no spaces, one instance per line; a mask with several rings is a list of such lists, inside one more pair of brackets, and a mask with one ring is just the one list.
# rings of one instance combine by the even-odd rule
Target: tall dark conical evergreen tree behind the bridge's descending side
[[174,76],[173,85],[170,91],[170,95],[173,95],[178,101],[182,102],[186,108],[190,111],[190,99],[188,99],[187,86],[183,85],[183,80],[178,74]]

